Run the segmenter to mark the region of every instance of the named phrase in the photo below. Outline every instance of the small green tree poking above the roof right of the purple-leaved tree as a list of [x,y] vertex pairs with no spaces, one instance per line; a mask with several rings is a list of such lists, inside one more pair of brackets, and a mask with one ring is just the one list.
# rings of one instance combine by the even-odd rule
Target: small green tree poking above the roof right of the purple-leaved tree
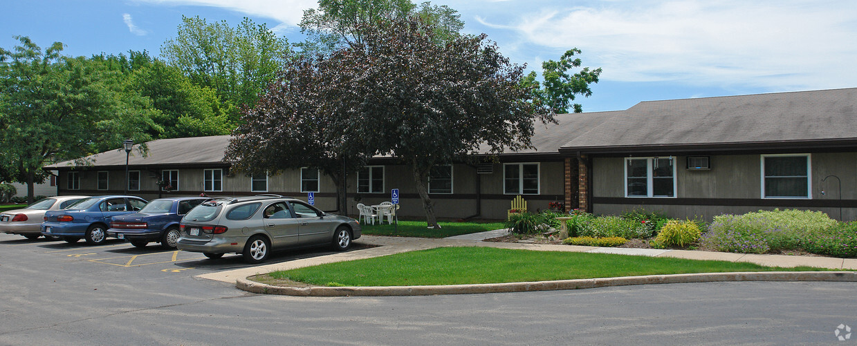
[[572,102],[575,96],[589,97],[592,95],[590,84],[598,82],[601,68],[591,70],[590,68],[583,68],[577,73],[569,75],[569,69],[577,69],[583,63],[580,58],[574,57],[574,54],[580,53],[581,51],[577,48],[572,48],[566,51],[558,62],[553,60],[543,62],[543,83],[536,81],[535,71],[524,77],[523,84],[525,87],[532,88],[538,106],[548,108],[554,113],[567,113],[570,107],[575,113],[583,111],[581,104]]

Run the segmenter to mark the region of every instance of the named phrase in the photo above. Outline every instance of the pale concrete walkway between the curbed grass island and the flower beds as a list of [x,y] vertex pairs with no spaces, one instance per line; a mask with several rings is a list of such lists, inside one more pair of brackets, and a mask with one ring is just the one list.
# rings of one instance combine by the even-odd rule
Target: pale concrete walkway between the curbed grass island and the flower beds
[[504,236],[506,230],[492,230],[488,232],[475,233],[464,236],[452,236],[444,239],[409,238],[395,236],[362,236],[355,243],[367,244],[373,248],[348,251],[339,254],[329,254],[309,259],[295,259],[283,263],[271,265],[259,265],[249,268],[236,269],[232,271],[219,271],[202,274],[197,277],[225,283],[237,283],[239,279],[264,274],[271,271],[285,271],[310,265],[321,265],[326,263],[340,262],[354,259],[368,259],[385,256],[388,254],[399,254],[409,251],[424,250],[428,248],[441,247],[490,247],[490,248],[512,248],[536,251],[564,251],[564,252],[588,252],[599,254],[628,254],[650,257],[674,257],[679,259],[717,259],[732,262],[750,262],[758,265],[769,266],[813,266],[830,269],[857,270],[857,259],[837,259],[831,257],[811,256],[787,256],[776,254],[732,254],[705,251],[687,250],[659,250],[650,248],[597,248],[580,247],[572,245],[546,245],[528,244],[514,242],[481,242],[484,239],[496,236]]

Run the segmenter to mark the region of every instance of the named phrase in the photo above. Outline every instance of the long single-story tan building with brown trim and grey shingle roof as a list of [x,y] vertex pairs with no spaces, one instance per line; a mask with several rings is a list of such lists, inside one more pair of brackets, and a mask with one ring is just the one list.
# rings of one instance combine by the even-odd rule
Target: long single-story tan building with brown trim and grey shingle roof
[[[642,102],[628,110],[562,114],[536,124],[534,148],[497,162],[438,167],[429,194],[441,218],[506,218],[524,195],[530,210],[562,202],[616,214],[643,206],[679,218],[723,212],[804,208],[857,218],[857,88]],[[129,194],[282,194],[336,208],[333,180],[318,170],[246,176],[223,162],[230,136],[153,140],[129,156]],[[117,194],[126,188],[123,150],[46,166],[58,170],[59,194]],[[478,161],[478,160],[476,160]],[[348,177],[350,214],[390,200],[422,216],[411,170],[373,158]]]

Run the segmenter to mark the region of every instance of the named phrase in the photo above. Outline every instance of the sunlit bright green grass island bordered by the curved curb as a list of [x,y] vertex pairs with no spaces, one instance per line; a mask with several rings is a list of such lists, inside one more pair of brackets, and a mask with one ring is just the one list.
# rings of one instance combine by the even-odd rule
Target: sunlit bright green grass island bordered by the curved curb
[[593,277],[626,277],[728,271],[826,271],[779,268],[744,262],[565,253],[501,248],[433,248],[373,259],[359,259],[274,271],[255,279],[321,286],[408,286],[512,283]]

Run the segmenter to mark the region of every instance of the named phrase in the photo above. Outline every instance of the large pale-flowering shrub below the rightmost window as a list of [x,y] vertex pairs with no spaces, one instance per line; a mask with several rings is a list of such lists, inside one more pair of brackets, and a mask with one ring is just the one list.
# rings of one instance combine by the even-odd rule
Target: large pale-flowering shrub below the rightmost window
[[714,218],[704,246],[735,253],[764,254],[799,248],[806,236],[824,233],[836,220],[824,212],[759,211]]

